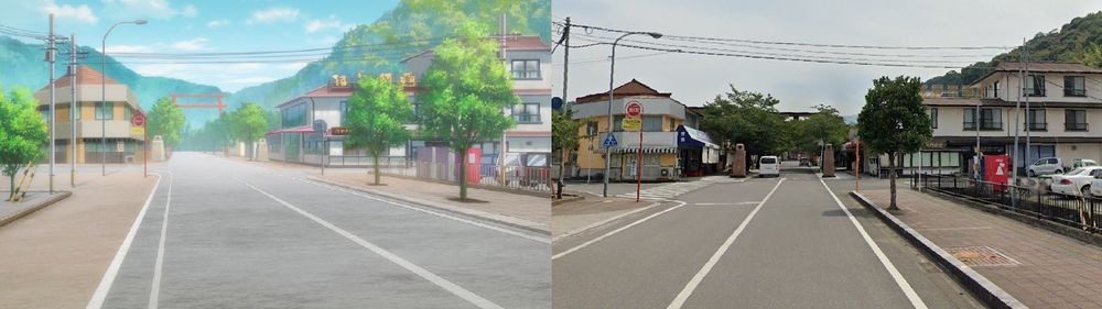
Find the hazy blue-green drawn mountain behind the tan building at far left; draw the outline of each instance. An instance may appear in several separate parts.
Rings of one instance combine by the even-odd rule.
[[[79,42],[79,40],[77,40]],[[93,47],[78,46],[82,53],[87,56],[80,60],[93,69],[102,71],[101,54]],[[43,62],[44,44],[29,44],[19,40],[0,36],[0,86],[4,91],[11,87],[26,87],[31,91],[37,91],[45,87],[50,80],[50,65]],[[65,75],[68,65],[68,45],[58,46],[57,63],[54,78]],[[161,97],[172,92],[179,93],[212,93],[222,92],[218,87],[199,85],[175,78],[142,76],[119,64],[115,58],[107,57],[108,75],[119,82],[130,87],[130,91],[138,98],[142,109],[149,110]],[[199,120],[217,117],[217,112],[208,110],[184,110],[185,115],[192,123],[202,123]]]

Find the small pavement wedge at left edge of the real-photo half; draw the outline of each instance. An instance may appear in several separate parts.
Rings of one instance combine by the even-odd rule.
[[[658,202],[647,200],[635,202],[635,199],[585,195],[584,199],[551,208],[551,236],[552,240],[570,236],[656,205]]]

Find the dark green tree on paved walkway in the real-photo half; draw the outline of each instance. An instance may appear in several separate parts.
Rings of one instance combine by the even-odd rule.
[[[892,205],[896,206],[896,157],[922,148],[933,135],[930,117],[922,106],[922,84],[917,77],[880,77],[865,95],[865,106],[857,115],[861,142],[874,153],[888,155]]]

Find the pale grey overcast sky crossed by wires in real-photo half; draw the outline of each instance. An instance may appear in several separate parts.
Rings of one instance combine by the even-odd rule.
[[[1102,1],[1098,0],[554,0],[551,5],[554,21],[570,16],[573,23],[618,30],[882,46],[1016,46],[1022,44],[1023,38],[1059,29],[1076,16],[1102,11]],[[613,36],[597,31],[590,34]],[[645,35],[635,35],[631,40],[679,43]],[[571,45],[584,43],[588,42],[579,40]],[[938,53],[966,55],[969,57],[951,58],[954,62],[965,60],[966,64],[988,60],[1001,52]],[[554,95],[562,96],[563,53],[560,48],[554,54]],[[571,49],[569,100],[608,91],[608,45]],[[619,86],[635,78],[659,91],[672,92],[674,99],[687,106],[703,106],[716,95],[727,91],[728,85],[734,85],[739,90],[773,95],[780,99],[778,109],[781,111],[804,111],[827,103],[849,115],[861,111],[864,95],[877,77],[908,75],[925,80],[948,70],[685,55],[617,47],[615,84]]]

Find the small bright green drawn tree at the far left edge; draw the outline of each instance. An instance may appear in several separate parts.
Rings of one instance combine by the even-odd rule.
[[[48,143],[46,121],[37,108],[29,90],[15,88],[6,97],[0,89],[0,170],[8,176],[12,195],[19,167],[39,159],[42,145]]]

